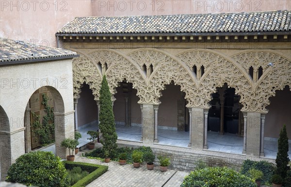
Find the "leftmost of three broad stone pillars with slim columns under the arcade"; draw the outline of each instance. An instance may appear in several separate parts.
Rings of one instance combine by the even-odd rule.
[[[155,138],[154,105],[143,104],[143,141],[152,144]]]

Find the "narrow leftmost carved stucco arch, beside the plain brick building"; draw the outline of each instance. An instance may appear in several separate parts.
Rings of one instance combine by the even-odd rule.
[[[74,98],[80,98],[83,83],[89,85],[93,92],[95,100],[99,98],[99,89],[101,83],[100,72],[96,65],[84,54],[80,54],[79,58],[73,59],[73,87]]]

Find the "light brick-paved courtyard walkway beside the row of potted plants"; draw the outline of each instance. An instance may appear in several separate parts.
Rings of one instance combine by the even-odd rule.
[[[162,172],[159,167],[150,171],[146,169],[145,165],[133,168],[132,164],[121,166],[118,162],[105,163],[81,156],[76,156],[75,161],[109,166],[107,172],[87,187],[179,187],[184,177],[189,174],[174,170]]]

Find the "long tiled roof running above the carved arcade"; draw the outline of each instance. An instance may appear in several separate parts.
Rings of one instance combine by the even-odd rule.
[[[291,11],[172,16],[76,17],[62,34],[291,31]]]

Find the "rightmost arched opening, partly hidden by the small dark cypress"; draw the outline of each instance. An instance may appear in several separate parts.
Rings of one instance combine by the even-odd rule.
[[[285,124],[289,138],[289,157],[291,157],[291,91],[289,86],[276,90],[275,96],[270,97],[270,105],[266,107],[264,126],[264,156],[276,158],[280,129]]]

